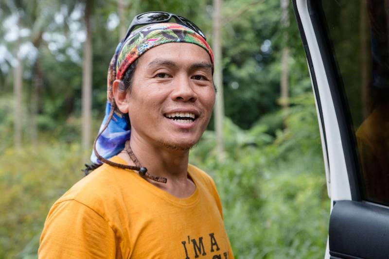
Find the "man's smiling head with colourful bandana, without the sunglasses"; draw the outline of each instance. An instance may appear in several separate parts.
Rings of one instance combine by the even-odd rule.
[[[109,122],[107,133],[102,134],[102,141],[97,139],[97,150],[107,158],[116,155],[130,130],[131,138],[189,149],[201,137],[212,113],[212,71],[210,46],[186,26],[159,23],[132,32],[111,60],[106,114],[111,104],[117,104],[119,111]]]

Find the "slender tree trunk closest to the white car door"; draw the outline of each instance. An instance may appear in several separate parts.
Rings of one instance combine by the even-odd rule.
[[[288,67],[288,59],[289,59],[289,48],[288,44],[288,33],[287,28],[289,27],[289,13],[288,13],[288,0],[281,0],[281,26],[283,27],[283,35],[285,40],[285,45],[282,51],[281,57],[281,78],[280,78],[280,104],[283,110],[288,108],[288,98],[289,98],[289,67]]]

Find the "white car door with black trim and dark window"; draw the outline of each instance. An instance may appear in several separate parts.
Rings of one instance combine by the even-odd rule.
[[[389,258],[389,1],[293,7],[331,197],[326,258]]]

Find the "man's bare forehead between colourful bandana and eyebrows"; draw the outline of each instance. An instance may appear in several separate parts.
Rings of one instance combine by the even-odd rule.
[[[141,55],[139,64],[149,66],[155,60],[168,60],[178,66],[192,65],[195,63],[211,64],[210,55],[206,50],[196,44],[186,42],[165,43],[151,48]]]

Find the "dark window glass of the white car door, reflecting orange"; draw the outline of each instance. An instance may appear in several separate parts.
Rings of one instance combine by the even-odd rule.
[[[321,4],[354,135],[362,199],[389,205],[389,1]]]

